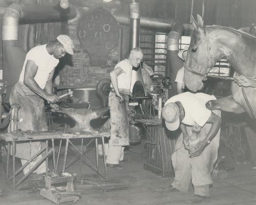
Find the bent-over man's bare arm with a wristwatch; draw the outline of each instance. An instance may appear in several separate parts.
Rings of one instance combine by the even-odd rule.
[[[199,156],[204,151],[206,146],[209,145],[208,141],[211,141],[216,136],[221,127],[221,118],[215,113],[211,112],[211,115],[206,123],[211,124],[210,131],[207,134],[206,138],[203,141],[200,141],[196,145],[196,148],[189,153],[191,157]]]

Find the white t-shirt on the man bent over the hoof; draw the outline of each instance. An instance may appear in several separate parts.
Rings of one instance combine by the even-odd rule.
[[[205,104],[207,101],[214,99],[216,99],[214,95],[185,92],[172,96],[166,101],[165,105],[180,101],[185,110],[182,123],[188,126],[194,126],[196,123],[203,127],[211,115],[211,111],[205,107]]]

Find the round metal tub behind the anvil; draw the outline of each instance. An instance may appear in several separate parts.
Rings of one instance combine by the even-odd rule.
[[[77,88],[73,89],[73,96],[84,102],[90,103],[90,108],[102,108],[100,98],[96,95],[96,88]]]

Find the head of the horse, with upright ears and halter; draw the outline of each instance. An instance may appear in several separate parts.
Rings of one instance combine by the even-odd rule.
[[[209,31],[204,26],[203,19],[198,15],[198,21],[192,17],[194,30],[191,32],[191,41],[188,48],[184,82],[191,91],[203,88],[203,80],[206,74],[215,65],[220,55],[214,44],[210,44]]]

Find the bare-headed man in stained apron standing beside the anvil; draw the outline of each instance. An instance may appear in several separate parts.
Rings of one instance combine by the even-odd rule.
[[[133,67],[138,67],[143,59],[140,48],[130,51],[128,59],[116,64],[110,72],[111,91],[110,107],[110,140],[107,153],[107,166],[120,168],[119,161],[124,159],[124,146],[129,145],[128,101]]]

